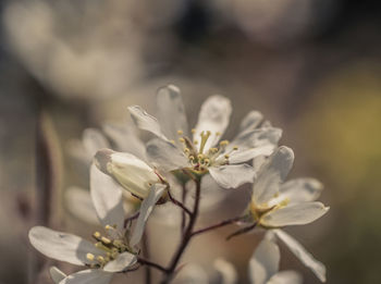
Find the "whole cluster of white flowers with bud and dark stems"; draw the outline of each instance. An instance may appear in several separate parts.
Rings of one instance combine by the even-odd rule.
[[[131,128],[105,128],[114,149],[120,151],[111,150],[100,132],[85,132],[85,149],[94,156],[90,197],[105,233],[95,232],[93,244],[67,233],[42,226],[33,227],[29,239],[37,250],[52,259],[87,267],[71,275],[52,268],[50,274],[53,281],[59,284],[107,284],[113,273],[126,273],[140,266],[151,266],[163,272],[162,283],[169,283],[192,237],[237,223],[242,227],[230,237],[254,229],[267,232],[249,261],[251,283],[302,283],[296,272],[278,272],[280,251],[275,238],[281,239],[324,282],[324,266],[281,230],[287,225],[308,224],[329,209],[315,201],[322,189],[318,181],[285,181],[293,165],[294,153],[287,147],[278,146],[282,131],[265,121],[260,112],[251,111],[241,123],[238,134],[231,143],[221,140],[232,112],[230,100],[222,96],[211,96],[204,102],[198,122],[189,131],[180,90],[173,85],[158,91],[157,104],[159,119],[138,106],[128,108],[136,126],[157,136],[146,145]],[[202,187],[201,181],[207,176],[223,188],[251,184],[253,194],[242,215],[196,231],[201,193],[208,190]],[[188,183],[196,184],[192,188],[190,206],[185,198],[186,192],[190,190]],[[172,194],[179,185],[183,190],[182,201]],[[128,217],[125,212],[126,199],[138,207],[134,214],[128,212]],[[75,198],[71,200],[75,201]],[[155,207],[165,202],[183,210],[182,242],[168,268],[139,255],[146,222]],[[91,210],[89,212],[91,214]],[[216,268],[223,283],[237,282],[234,267],[229,262],[219,260]],[[183,275],[185,272],[186,269]],[[208,283],[207,277],[200,279],[202,273],[198,276],[190,274],[184,283]],[[181,282],[181,275],[177,281]]]

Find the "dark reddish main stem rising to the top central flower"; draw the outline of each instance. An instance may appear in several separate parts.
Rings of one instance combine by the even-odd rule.
[[[172,258],[170,267],[168,268],[168,270],[165,272],[164,279],[161,281],[161,284],[168,284],[171,282],[172,277],[173,277],[173,272],[175,271],[177,263],[179,263],[181,257],[183,256],[183,254],[185,252],[185,249],[188,246],[188,244],[192,239],[192,236],[193,236],[193,230],[194,230],[194,226],[195,226],[196,221],[197,221],[199,202],[200,202],[201,178],[198,177],[198,178],[195,178],[194,181],[196,183],[196,195],[195,195],[195,205],[194,205],[193,213],[189,218],[188,225],[186,226],[186,230],[184,232],[183,239],[180,243],[180,246],[177,247],[177,249]]]

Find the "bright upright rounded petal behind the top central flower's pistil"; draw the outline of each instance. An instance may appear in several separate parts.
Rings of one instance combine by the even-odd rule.
[[[232,106],[228,98],[217,95],[209,97],[202,103],[198,114],[194,140],[200,143],[200,134],[210,131],[211,135],[205,145],[205,149],[214,146],[221,137],[216,134],[220,133],[222,135],[225,132],[231,113]]]

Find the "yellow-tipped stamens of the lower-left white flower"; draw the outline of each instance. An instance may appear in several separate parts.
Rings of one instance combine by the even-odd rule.
[[[97,240],[94,246],[105,254],[96,256],[89,252],[86,255],[91,269],[103,268],[109,261],[114,260],[119,254],[131,250],[125,237],[122,236],[115,226],[106,225],[105,229],[109,232],[109,236],[103,236],[99,232],[93,234],[93,237]],[[111,238],[110,235],[115,237]]]

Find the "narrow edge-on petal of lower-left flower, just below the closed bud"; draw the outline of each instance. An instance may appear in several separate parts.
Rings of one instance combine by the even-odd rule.
[[[131,237],[131,242],[130,242],[131,246],[135,246],[140,242],[148,218],[152,212],[156,202],[162,196],[165,187],[167,185],[163,185],[163,184],[152,185],[148,197],[143,200],[140,206],[140,211],[139,211],[139,218],[136,221],[136,225],[135,225],[133,235]]]

